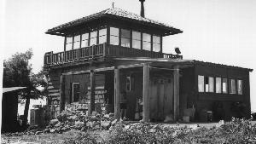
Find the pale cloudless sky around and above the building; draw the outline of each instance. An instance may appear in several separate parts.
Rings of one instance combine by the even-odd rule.
[[[47,35],[49,28],[114,6],[139,14],[138,0],[8,0],[5,2],[3,59],[32,48],[38,72],[44,53],[63,50],[63,37]],[[146,17],[180,28],[164,38],[164,52],[181,49],[184,59],[204,60],[256,71],[255,0],[146,0]],[[0,32],[3,34],[2,32]],[[3,39],[2,39],[3,40]],[[256,111],[256,74],[251,72],[251,103]]]

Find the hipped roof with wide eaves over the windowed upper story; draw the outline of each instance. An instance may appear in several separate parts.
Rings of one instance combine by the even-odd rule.
[[[148,24],[153,24],[155,26],[163,26],[169,29],[173,29],[176,30],[176,33],[181,33],[182,31],[179,29],[176,29],[172,26],[169,26],[167,24],[161,23],[157,20],[150,20],[148,18],[142,17],[138,14],[133,14],[131,12],[128,12],[126,10],[123,9],[119,9],[119,8],[111,8],[111,9],[105,9],[102,10],[101,12],[98,12],[96,14],[90,14],[89,16],[85,16],[83,18],[80,18],[78,20],[73,20],[70,22],[67,22],[65,24],[62,24],[60,26],[55,26],[54,28],[49,29],[46,33],[48,34],[54,34],[55,32],[67,28],[67,27],[71,27],[71,26],[76,26],[79,25],[81,23],[84,23],[88,20],[94,20],[94,19],[98,19],[100,17],[106,16],[106,15],[113,15],[113,16],[117,16],[119,18],[126,18],[128,20],[136,20],[136,21],[140,21],[140,22],[144,22],[144,23],[148,23]]]

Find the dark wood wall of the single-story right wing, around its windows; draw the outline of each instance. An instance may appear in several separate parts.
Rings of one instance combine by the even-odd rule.
[[[199,93],[197,90],[197,77],[198,75],[220,77],[220,78],[235,78],[241,79],[242,82],[242,95],[237,94],[217,94],[217,93]],[[195,65],[195,97],[196,98],[196,114],[197,118],[201,121],[205,121],[206,115],[203,111],[210,110],[215,111],[217,105],[223,109],[222,117],[230,120],[231,117],[238,117],[239,113],[232,110],[232,104],[234,102],[241,102],[245,104],[244,117],[250,118],[250,86],[249,86],[249,72],[245,69],[227,66],[211,66],[198,64]],[[219,113],[213,112],[214,115]],[[216,119],[218,120],[218,119]]]

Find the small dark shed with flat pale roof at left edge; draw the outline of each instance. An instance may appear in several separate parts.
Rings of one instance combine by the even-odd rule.
[[[3,88],[1,132],[18,130],[18,92],[26,87]]]

